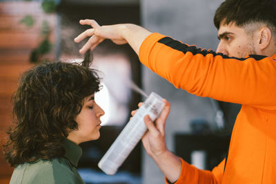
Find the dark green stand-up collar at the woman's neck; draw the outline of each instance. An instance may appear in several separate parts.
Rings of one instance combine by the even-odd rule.
[[[77,167],[82,154],[81,147],[68,139],[63,139],[63,146],[65,148],[65,157],[74,167]]]

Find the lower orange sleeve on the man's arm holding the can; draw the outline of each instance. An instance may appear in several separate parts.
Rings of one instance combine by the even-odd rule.
[[[225,159],[224,159],[225,161]],[[224,172],[224,161],[219,163],[212,172],[208,170],[199,170],[197,167],[186,163],[181,159],[182,167],[181,174],[177,181],[173,184],[219,184],[221,183],[222,175]],[[170,184],[165,177],[166,184]]]

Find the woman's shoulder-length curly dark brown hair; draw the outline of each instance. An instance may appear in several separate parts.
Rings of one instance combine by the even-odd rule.
[[[62,139],[78,128],[83,99],[100,89],[89,54],[77,63],[42,63],[25,72],[12,96],[16,125],[8,132],[5,159],[11,166],[64,156]]]

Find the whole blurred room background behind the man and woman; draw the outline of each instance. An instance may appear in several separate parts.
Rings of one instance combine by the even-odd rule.
[[[55,4],[52,12],[45,12],[43,8],[48,6],[41,6],[42,2],[0,1],[2,142],[12,121],[10,96],[17,87],[19,75],[43,59],[66,62],[83,59],[78,50],[84,42],[77,44],[72,41],[77,34],[89,28],[79,25],[79,19],[95,19],[100,25],[136,23],[189,45],[213,50],[217,48],[213,15],[222,0],[57,0],[52,1]],[[43,24],[45,20],[48,24]],[[48,42],[43,42],[46,37],[50,50]],[[43,50],[48,49],[48,52],[39,50],[41,43],[44,44]],[[93,67],[102,71],[107,89],[105,92],[108,91],[103,94],[108,97],[103,99],[110,99],[108,101],[112,103],[107,107],[111,109],[110,118],[101,128],[101,138],[81,145],[83,156],[79,171],[86,183],[164,183],[164,175],[146,154],[141,143],[115,176],[107,176],[97,168],[101,156],[128,122],[130,111],[144,100],[141,94],[131,88],[129,81],[147,94],[157,92],[170,101],[171,111],[166,123],[169,150],[186,156],[184,159],[189,163],[198,163],[198,167],[205,169],[211,169],[224,158],[239,105],[201,98],[176,89],[141,65],[129,45],[103,41],[93,55]],[[223,126],[219,127],[219,123],[223,123]],[[0,154],[0,183],[8,183],[11,173],[12,168]]]

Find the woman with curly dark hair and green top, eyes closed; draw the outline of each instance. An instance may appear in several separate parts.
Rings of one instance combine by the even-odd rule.
[[[21,76],[12,97],[16,125],[4,151],[15,167],[10,183],[84,183],[76,170],[79,143],[99,139],[104,114],[88,58],[82,65],[43,63]]]

